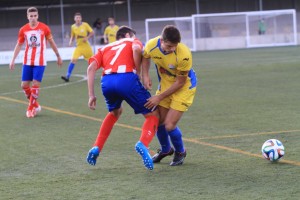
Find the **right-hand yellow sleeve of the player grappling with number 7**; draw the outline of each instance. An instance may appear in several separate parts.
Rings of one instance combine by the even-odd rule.
[[[188,47],[182,45],[178,48],[178,71],[189,71],[192,68],[192,54]]]

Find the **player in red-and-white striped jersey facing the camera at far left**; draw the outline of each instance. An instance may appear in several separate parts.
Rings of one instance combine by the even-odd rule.
[[[57,64],[62,65],[62,60],[58,49],[53,40],[50,28],[38,21],[38,10],[35,7],[27,9],[28,24],[25,24],[19,31],[18,41],[14,49],[12,61],[9,65],[11,70],[15,68],[15,59],[18,56],[22,45],[26,42],[21,87],[29,99],[29,105],[26,111],[28,118],[34,117],[37,112],[41,111],[41,106],[37,102],[39,97],[39,88],[43,79],[46,67],[46,43],[49,42],[51,48],[57,56]],[[32,86],[30,84],[32,82]]]

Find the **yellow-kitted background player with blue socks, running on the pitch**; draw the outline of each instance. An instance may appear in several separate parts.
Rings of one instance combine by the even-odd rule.
[[[75,39],[76,48],[73,52],[66,76],[61,77],[66,82],[69,82],[72,71],[80,56],[83,56],[85,60],[89,60],[90,57],[93,56],[92,47],[88,41],[89,38],[94,35],[93,29],[88,23],[82,22],[81,13],[75,13],[74,21],[75,24],[71,26],[71,38],[69,46],[72,45],[72,42]]]

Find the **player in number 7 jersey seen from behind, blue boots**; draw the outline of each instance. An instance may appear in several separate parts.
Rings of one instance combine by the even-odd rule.
[[[135,114],[143,114],[145,117],[141,137],[135,149],[142,156],[144,166],[152,170],[153,162],[148,145],[157,130],[158,112],[144,107],[151,95],[142,86],[137,75],[140,72],[143,45],[135,39],[135,31],[126,26],[120,27],[116,37],[118,41],[99,49],[89,61],[88,105],[92,110],[96,107],[95,74],[98,69],[103,68],[101,87],[109,113],[103,120],[94,147],[88,153],[87,162],[91,165],[96,164],[105,141],[122,113],[122,102],[125,100],[134,109]]]

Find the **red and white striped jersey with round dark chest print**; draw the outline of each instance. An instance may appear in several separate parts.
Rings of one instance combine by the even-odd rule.
[[[51,38],[50,28],[42,22],[38,22],[34,28],[31,28],[29,23],[20,28],[18,43],[23,44],[26,42],[23,64],[46,66],[46,39]]]

